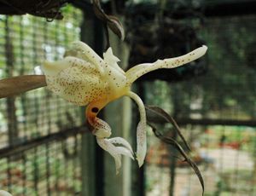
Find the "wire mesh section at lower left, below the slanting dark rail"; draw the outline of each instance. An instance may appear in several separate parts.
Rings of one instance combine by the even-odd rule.
[[[1,159],[1,188],[13,195],[79,194],[79,142],[74,140],[79,137],[45,142]]]

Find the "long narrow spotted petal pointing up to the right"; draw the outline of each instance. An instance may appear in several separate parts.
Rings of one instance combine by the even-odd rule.
[[[160,68],[175,68],[177,66],[183,66],[184,64],[195,61],[202,55],[205,55],[206,52],[207,46],[203,45],[200,48],[195,49],[186,55],[181,55],[165,60],[158,60],[154,63],[143,63],[137,66],[133,66],[131,67],[131,69],[125,72],[125,75],[128,79],[129,84],[132,84],[135,80],[137,80],[137,78],[140,78],[147,72],[151,72]]]

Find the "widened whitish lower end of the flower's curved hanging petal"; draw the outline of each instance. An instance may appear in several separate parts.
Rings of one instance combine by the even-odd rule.
[[[147,153],[147,134],[145,122],[139,122],[137,125],[137,162],[139,167],[144,163]]]

